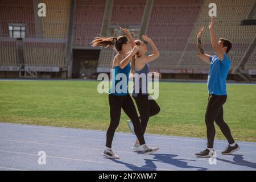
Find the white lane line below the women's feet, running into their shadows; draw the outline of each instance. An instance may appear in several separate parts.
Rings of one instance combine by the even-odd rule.
[[[6,152],[6,153],[11,153],[11,154],[21,154],[21,155],[32,155],[32,156],[38,156],[37,154],[30,154],[30,153],[25,153],[25,152],[13,152],[13,151],[6,151],[6,150],[0,150],[0,152]],[[138,167],[130,164],[117,164],[117,163],[108,163],[108,162],[100,162],[100,161],[94,161],[94,160],[86,160],[86,159],[76,159],[76,158],[64,158],[60,156],[52,156],[52,155],[47,155],[47,158],[54,158],[54,159],[64,159],[64,160],[75,160],[79,162],[90,162],[90,163],[99,163],[99,164],[110,164],[110,165],[117,165],[117,166],[130,166],[130,167]],[[152,168],[152,167],[138,167],[138,168],[146,168],[146,169],[159,169],[163,171],[172,171],[172,169],[163,169],[163,168]]]

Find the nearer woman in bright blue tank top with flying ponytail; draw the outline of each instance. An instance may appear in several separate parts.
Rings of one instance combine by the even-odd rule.
[[[96,37],[91,43],[92,47],[102,46],[107,48],[114,45],[115,51],[117,52],[112,64],[113,79],[112,87],[109,90],[110,125],[106,133],[106,148],[102,154],[111,159],[119,159],[112,150],[112,141],[115,130],[119,125],[121,109],[123,109],[131,121],[133,121],[134,131],[142,148],[142,154],[147,155],[158,150],[158,148],[151,148],[146,145],[135,105],[127,89],[131,69],[131,57],[133,57],[140,48],[135,45],[133,37],[126,28],[120,29],[125,32],[127,36],[118,36],[117,38]]]

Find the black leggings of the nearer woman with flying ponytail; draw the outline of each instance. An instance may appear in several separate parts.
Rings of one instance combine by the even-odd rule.
[[[121,117],[121,109],[125,111],[126,115],[131,119],[134,126],[134,132],[139,140],[139,144],[145,144],[143,131],[141,124],[139,123],[139,117],[137,110],[133,103],[133,99],[130,94],[126,96],[115,96],[114,94],[109,94],[109,106],[110,106],[110,125],[106,133],[106,147],[112,147],[112,140],[114,137],[115,130],[119,125],[119,120]]]

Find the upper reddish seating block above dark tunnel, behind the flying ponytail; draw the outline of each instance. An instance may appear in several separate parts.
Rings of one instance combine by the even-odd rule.
[[[105,0],[76,1],[73,46],[90,46],[92,39],[101,33],[104,9]]]

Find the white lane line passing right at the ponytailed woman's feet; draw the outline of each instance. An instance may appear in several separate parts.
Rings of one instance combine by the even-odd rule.
[[[69,148],[82,148],[84,150],[100,150],[102,151],[101,148],[88,148],[88,147],[81,147],[81,146],[65,146],[65,145],[61,145],[61,144],[50,144],[50,143],[39,143],[39,142],[27,142],[27,141],[23,141],[23,140],[9,140],[9,139],[0,139],[0,140],[6,140],[8,142],[21,142],[21,143],[32,143],[32,144],[43,144],[43,145],[49,145],[49,146],[58,146],[58,147],[69,147]],[[134,152],[126,152],[126,151],[115,151],[115,152],[120,152],[120,153],[127,153],[127,154],[134,154]],[[175,154],[173,154],[175,155]],[[177,155],[179,156],[179,155]],[[180,159],[189,159],[189,160],[203,160],[203,161],[208,161],[208,159],[203,159],[203,158],[187,158],[187,157],[183,157],[183,156],[179,156]],[[175,158],[176,159],[176,158]],[[222,162],[222,161],[220,161]],[[245,163],[237,163],[236,164],[245,164]],[[249,164],[252,166],[256,166],[255,164]]]

